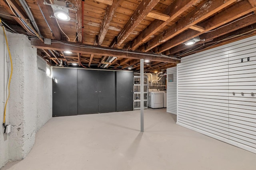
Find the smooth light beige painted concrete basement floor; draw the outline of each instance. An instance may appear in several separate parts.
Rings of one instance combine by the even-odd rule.
[[[2,170],[255,170],[256,154],[176,125],[166,109],[54,117]]]

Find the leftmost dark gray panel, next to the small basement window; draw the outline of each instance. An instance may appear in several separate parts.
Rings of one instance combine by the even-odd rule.
[[[52,116],[77,115],[77,70],[52,68],[52,74]]]

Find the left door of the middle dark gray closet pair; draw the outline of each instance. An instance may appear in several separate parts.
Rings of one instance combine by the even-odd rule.
[[[78,115],[98,113],[98,71],[78,69]]]

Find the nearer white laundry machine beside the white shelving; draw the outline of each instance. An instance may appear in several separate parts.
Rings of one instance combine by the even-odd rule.
[[[158,92],[157,89],[148,90],[148,107],[162,108],[164,107],[164,93]]]

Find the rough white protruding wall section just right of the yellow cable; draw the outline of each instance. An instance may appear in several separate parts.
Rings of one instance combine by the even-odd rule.
[[[10,51],[13,61],[13,76],[9,103],[10,152],[12,160],[24,158],[32,149],[36,133],[37,77],[36,49],[32,48],[26,36],[10,34]],[[18,139],[18,140],[16,140]]]

